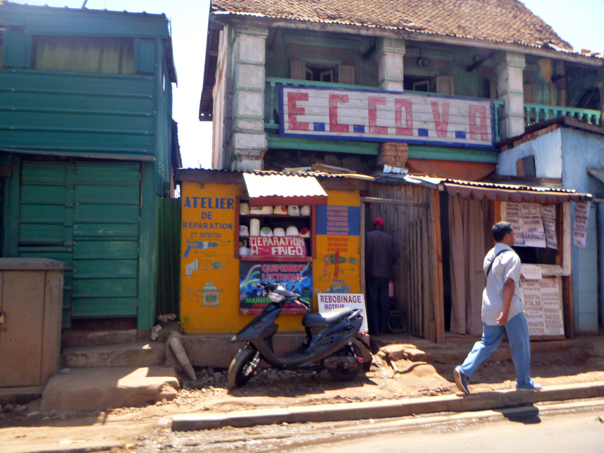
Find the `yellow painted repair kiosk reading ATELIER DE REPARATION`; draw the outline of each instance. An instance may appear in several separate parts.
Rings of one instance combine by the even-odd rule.
[[[179,170],[181,322],[185,333],[233,333],[266,306],[257,283],[317,294],[362,291],[361,191],[371,176]],[[286,307],[280,332],[303,330]]]

